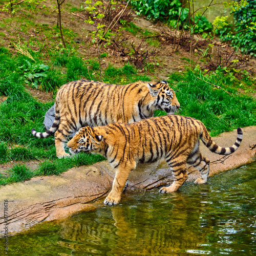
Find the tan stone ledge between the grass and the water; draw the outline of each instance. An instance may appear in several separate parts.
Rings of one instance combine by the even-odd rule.
[[[224,170],[238,168],[256,160],[256,126],[243,128],[243,141],[236,152],[229,156],[211,153],[200,144],[201,152],[210,159],[209,176]],[[220,146],[231,146],[237,131],[224,133],[214,138]],[[199,177],[198,170],[189,167],[188,182]],[[81,210],[91,210],[103,205],[111,190],[114,170],[108,161],[91,166],[73,167],[59,176],[35,177],[29,181],[0,187],[0,201],[8,200],[8,231],[21,232],[42,221],[67,218]],[[130,173],[125,193],[136,193],[135,189],[153,189],[172,183],[173,177],[165,162],[140,164]],[[96,200],[98,199],[98,200]],[[4,212],[4,204],[0,204]],[[2,215],[0,225],[5,225]],[[3,236],[3,230],[1,230]],[[1,236],[1,233],[0,233]]]

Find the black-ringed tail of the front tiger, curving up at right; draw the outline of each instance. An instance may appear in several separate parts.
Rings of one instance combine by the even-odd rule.
[[[200,138],[202,139],[203,143],[209,148],[211,152],[217,153],[219,155],[230,155],[231,153],[235,152],[243,139],[243,132],[240,127],[238,127],[238,136],[236,142],[230,147],[221,147],[218,146],[214,141],[211,140],[209,133],[207,132],[206,128],[200,134]]]

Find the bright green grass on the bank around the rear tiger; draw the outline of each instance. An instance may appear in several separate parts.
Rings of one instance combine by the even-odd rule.
[[[57,175],[72,166],[103,159],[91,154],[57,159],[54,136],[38,139],[31,134],[32,128],[45,131],[42,124],[45,113],[54,103],[54,95],[63,83],[81,78],[99,80],[98,62],[84,60],[69,50],[52,52],[48,60],[42,60],[40,52],[27,50],[28,54],[24,56],[0,48],[0,96],[3,99],[0,103],[0,163],[26,160],[40,160],[41,163],[33,172],[24,164],[14,165],[7,176],[0,175],[1,185],[38,175]],[[119,84],[156,80],[139,74],[129,64],[121,68],[110,65],[102,75],[103,81]],[[256,102],[245,93],[251,86],[249,79],[240,81],[230,74],[223,75],[220,70],[211,74],[195,70],[174,73],[167,81],[177,90],[180,114],[203,121],[212,136],[256,123]],[[29,88],[51,91],[53,97],[42,103],[32,97]],[[156,116],[163,114],[161,111],[155,113]]]

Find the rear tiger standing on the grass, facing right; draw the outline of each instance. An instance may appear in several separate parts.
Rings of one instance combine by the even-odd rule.
[[[31,132],[38,138],[55,133],[57,157],[69,157],[64,147],[66,138],[83,126],[132,123],[152,117],[155,110],[174,114],[179,106],[174,90],[165,80],[138,81],[125,86],[78,80],[66,83],[58,90],[52,127],[44,133],[35,129]]]

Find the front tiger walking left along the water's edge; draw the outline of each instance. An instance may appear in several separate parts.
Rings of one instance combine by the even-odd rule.
[[[116,175],[104,204],[113,205],[120,202],[129,173],[138,163],[166,160],[175,181],[168,187],[162,187],[159,190],[161,193],[174,192],[186,181],[186,163],[200,172],[201,177],[195,183],[206,183],[210,161],[199,151],[199,138],[210,151],[229,155],[237,150],[242,141],[241,128],[237,132],[237,140],[231,147],[220,147],[212,141],[201,121],[191,117],[167,115],[131,124],[83,127],[67,145],[72,154],[91,151],[108,158]]]

